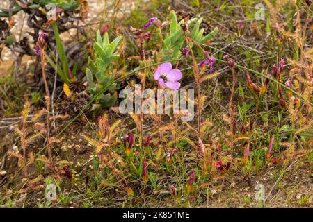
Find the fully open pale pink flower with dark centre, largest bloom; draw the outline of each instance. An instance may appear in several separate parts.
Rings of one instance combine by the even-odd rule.
[[[182,72],[179,69],[172,69],[170,62],[165,62],[154,72],[154,80],[159,80],[159,84],[170,89],[179,89]]]

